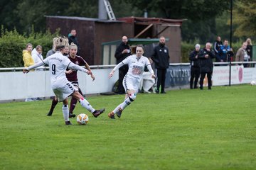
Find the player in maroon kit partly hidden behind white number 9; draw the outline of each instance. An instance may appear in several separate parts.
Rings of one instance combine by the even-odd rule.
[[[67,57],[74,64],[84,65],[85,68],[91,72],[89,64],[87,64],[87,62],[85,62],[85,60],[83,60],[82,57],[76,55],[77,52],[78,52],[78,46],[72,42],[70,45],[70,53]],[[82,91],[79,88],[79,84],[78,84],[78,70],[70,69],[70,70],[67,70],[65,73],[66,73],[66,77],[67,77],[68,81],[70,81],[76,88],[78,88],[79,93],[82,94]],[[94,75],[91,74],[90,76],[92,77],[92,81],[94,81],[95,80]],[[72,97],[71,101],[70,101],[70,111],[69,111],[70,118],[75,117],[75,114],[73,114],[73,111],[75,109],[76,103],[78,103],[78,101]],[[53,98],[52,105],[50,106],[50,111],[47,114],[48,116],[53,114],[53,110],[57,104],[58,104],[58,99],[55,97],[55,98]]]

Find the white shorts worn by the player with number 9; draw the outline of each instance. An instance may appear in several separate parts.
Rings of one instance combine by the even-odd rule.
[[[53,89],[55,96],[58,98],[58,101],[64,101],[65,98],[68,98],[74,91],[78,91],[78,89],[71,84],[69,81],[66,82],[64,86],[58,87],[57,89]]]

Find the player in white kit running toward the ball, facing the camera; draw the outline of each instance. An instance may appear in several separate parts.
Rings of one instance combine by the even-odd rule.
[[[136,55],[130,55],[122,62],[117,64],[112,72],[110,72],[109,78],[111,78],[114,72],[122,67],[124,64],[128,64],[129,66],[128,72],[123,79],[123,86],[127,94],[125,94],[124,102],[119,104],[119,106],[117,106],[114,111],[108,114],[108,116],[112,119],[114,119],[114,114],[117,114],[117,117],[120,118],[124,108],[126,108],[130,103],[132,103],[132,101],[135,100],[136,95],[139,91],[139,85],[140,81],[142,80],[142,73],[144,72],[144,67],[147,67],[149,69],[152,78],[156,78],[149,59],[142,56],[143,53],[144,47],[142,45],[138,45],[136,47]]]

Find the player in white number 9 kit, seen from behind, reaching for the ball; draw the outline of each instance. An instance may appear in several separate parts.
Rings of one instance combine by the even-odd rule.
[[[58,38],[56,40],[56,51],[55,54],[47,57],[43,62],[39,62],[38,64],[33,64],[32,66],[23,70],[23,73],[28,73],[31,69],[36,67],[40,67],[43,64],[48,64],[50,67],[50,82],[55,96],[58,98],[58,101],[63,101],[63,117],[65,119],[66,125],[72,125],[69,120],[69,112],[68,112],[68,96],[75,97],[81,104],[82,107],[86,108],[90,111],[95,117],[100,115],[105,111],[105,108],[100,110],[95,110],[92,108],[90,103],[82,97],[82,95],[78,92],[78,89],[73,86],[73,84],[68,81],[65,75],[65,71],[68,68],[80,70],[81,72],[85,72],[88,75],[92,74],[92,72],[84,69],[73,62],[71,62],[68,57],[63,55],[65,47],[68,46],[67,38]]]

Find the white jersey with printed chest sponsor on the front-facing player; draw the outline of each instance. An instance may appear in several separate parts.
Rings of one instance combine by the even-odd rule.
[[[140,57],[139,59],[136,55],[130,55],[122,61],[123,64],[128,64],[129,69],[127,75],[129,77],[134,77],[137,79],[142,79],[142,73],[144,68],[148,65],[151,65],[147,57]]]

